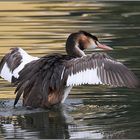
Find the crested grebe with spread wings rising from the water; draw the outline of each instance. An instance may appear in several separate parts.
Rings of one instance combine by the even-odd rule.
[[[23,106],[51,108],[64,103],[72,87],[107,85],[135,88],[139,79],[124,64],[107,55],[84,50],[113,50],[87,31],[71,33],[66,40],[66,55],[53,53],[34,57],[22,48],[12,48],[0,62],[0,76],[16,86],[16,106],[23,95]]]

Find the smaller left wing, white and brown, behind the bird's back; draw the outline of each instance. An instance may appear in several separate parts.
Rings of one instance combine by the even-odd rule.
[[[0,62],[0,76],[9,82],[18,78],[25,64],[39,58],[27,54],[21,48],[12,48]]]

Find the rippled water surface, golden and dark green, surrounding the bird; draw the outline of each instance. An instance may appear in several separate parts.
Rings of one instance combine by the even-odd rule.
[[[66,38],[78,30],[113,47],[108,54],[140,78],[140,2],[0,1],[0,59],[12,47],[65,53]],[[14,89],[0,79],[0,138],[140,138],[140,88],[75,87],[52,110],[26,110],[22,101],[14,109]]]

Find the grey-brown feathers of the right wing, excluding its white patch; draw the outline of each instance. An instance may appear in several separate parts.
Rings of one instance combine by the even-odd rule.
[[[65,64],[63,79],[68,80],[71,74],[77,74],[87,69],[97,68],[97,75],[101,82],[112,87],[139,86],[139,80],[125,65],[112,59],[105,53],[96,53],[82,58],[72,59]],[[85,73],[83,72],[83,76]],[[93,77],[94,78],[94,77]],[[83,84],[78,83],[79,85]]]

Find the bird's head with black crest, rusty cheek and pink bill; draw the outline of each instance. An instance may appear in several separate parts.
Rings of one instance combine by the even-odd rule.
[[[66,41],[66,51],[72,56],[81,57],[85,55],[83,50],[88,48],[113,50],[111,47],[101,44],[96,36],[86,31],[72,33]]]

